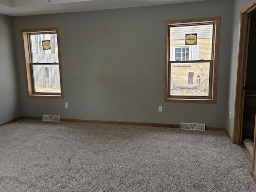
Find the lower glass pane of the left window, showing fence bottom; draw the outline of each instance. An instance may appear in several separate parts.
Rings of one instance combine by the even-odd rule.
[[[35,92],[60,93],[59,65],[33,65]]]

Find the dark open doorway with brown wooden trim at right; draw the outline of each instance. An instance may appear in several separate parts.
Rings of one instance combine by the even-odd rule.
[[[256,63],[256,59],[254,59],[256,48],[253,45],[255,40],[254,42],[252,41],[256,32],[256,24],[254,24],[256,22],[255,10],[256,0],[251,0],[244,6],[240,14],[240,41],[232,142],[234,144],[242,144],[242,141],[248,137],[254,140],[252,176],[256,180],[256,135],[254,131],[256,112],[254,74],[256,68],[253,66]]]

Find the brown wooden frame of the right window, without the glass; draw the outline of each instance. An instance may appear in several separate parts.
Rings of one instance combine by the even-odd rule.
[[[212,37],[212,59],[211,60],[189,60],[189,61],[169,60],[170,26],[188,26],[188,25],[197,25],[197,24],[214,24],[214,31],[213,31],[213,37]],[[183,102],[183,103],[186,102],[186,103],[208,103],[208,104],[216,103],[219,39],[220,39],[220,17],[165,21],[164,102]],[[193,63],[202,63],[202,62],[210,63],[209,96],[170,96],[171,64],[193,64]]]

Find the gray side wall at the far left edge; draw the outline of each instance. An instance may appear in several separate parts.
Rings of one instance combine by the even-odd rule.
[[[0,123],[20,116],[12,17],[0,14]]]

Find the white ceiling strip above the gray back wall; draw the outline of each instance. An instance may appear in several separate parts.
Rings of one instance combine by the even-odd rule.
[[[152,6],[205,0],[0,0],[0,14],[26,16]]]

